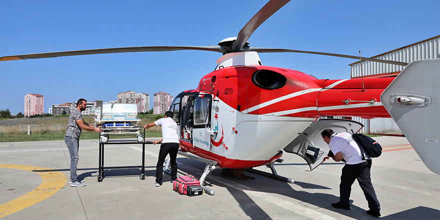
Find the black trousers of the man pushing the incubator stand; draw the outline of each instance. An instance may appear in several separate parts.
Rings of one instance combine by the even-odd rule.
[[[162,183],[163,175],[163,162],[165,162],[166,155],[169,154],[171,164],[171,180],[177,178],[177,162],[175,157],[177,156],[178,143],[162,143],[160,144],[159,158],[156,164],[156,182]]]

